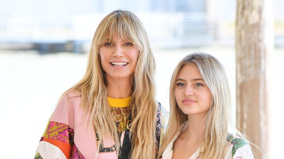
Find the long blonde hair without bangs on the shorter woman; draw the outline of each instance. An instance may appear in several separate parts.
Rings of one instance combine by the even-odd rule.
[[[229,125],[235,129],[231,121],[232,100],[226,72],[221,62],[206,53],[193,53],[184,57],[175,68],[170,82],[170,118],[159,151],[159,157],[169,142],[177,134],[180,126],[188,120],[175,99],[175,80],[180,70],[187,64],[194,64],[212,94],[212,103],[206,115],[205,133],[201,142],[201,158],[220,159],[225,156],[226,140]],[[238,136],[245,138],[238,130]]]

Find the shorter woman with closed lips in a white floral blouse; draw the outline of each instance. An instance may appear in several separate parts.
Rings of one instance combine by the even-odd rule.
[[[231,119],[225,69],[206,53],[184,57],[170,83],[170,119],[159,152],[162,159],[253,159],[249,142]]]

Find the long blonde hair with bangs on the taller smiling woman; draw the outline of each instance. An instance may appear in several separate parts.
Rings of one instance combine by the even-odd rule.
[[[88,65],[83,78],[66,93],[78,90],[81,93],[85,117],[94,127],[99,137],[108,135],[120,148],[117,127],[109,112],[107,101],[107,80],[101,67],[99,47],[107,39],[112,41],[115,35],[131,42],[139,49],[138,62],[133,73],[132,98],[132,159],[155,158],[156,132],[156,87],[155,61],[148,36],[141,21],[130,11],[113,11],[100,22],[96,29],[88,55]],[[91,125],[93,123],[93,125]],[[98,142],[98,149],[101,138]]]

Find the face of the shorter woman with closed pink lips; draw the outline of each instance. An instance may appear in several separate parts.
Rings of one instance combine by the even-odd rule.
[[[212,95],[194,64],[185,65],[175,81],[175,99],[187,115],[207,113]]]

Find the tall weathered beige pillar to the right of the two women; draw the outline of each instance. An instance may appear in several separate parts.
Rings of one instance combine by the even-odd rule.
[[[256,159],[269,157],[270,59],[273,53],[271,0],[237,0],[236,102],[237,127],[261,151]]]

